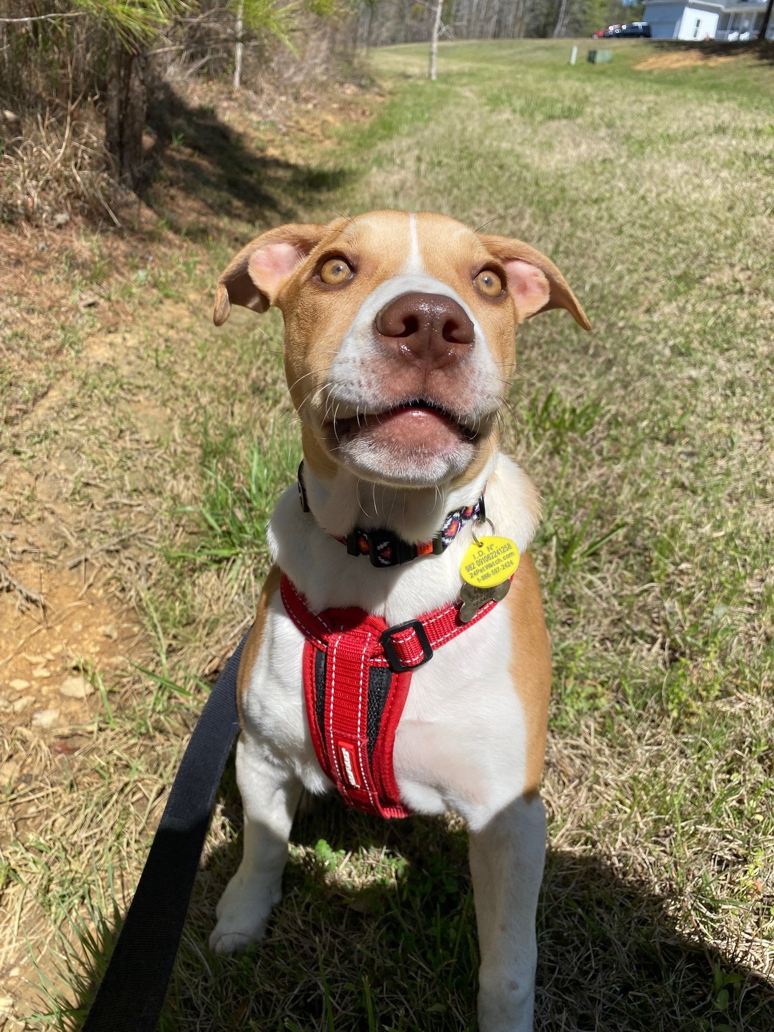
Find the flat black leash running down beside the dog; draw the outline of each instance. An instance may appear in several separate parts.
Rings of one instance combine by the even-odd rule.
[[[215,796],[239,721],[236,672],[247,635],[201,711],[134,899],[82,1032],[154,1032],[178,954]]]

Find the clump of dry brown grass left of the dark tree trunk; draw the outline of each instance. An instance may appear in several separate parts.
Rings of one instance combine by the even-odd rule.
[[[101,133],[86,117],[14,123],[0,137],[0,221],[61,226],[74,215],[119,226],[126,203]]]

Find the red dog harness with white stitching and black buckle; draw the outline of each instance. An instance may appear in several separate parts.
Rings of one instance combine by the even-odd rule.
[[[361,609],[313,613],[283,574],[282,601],[303,633],[303,694],[317,759],[349,806],[382,817],[406,817],[392,749],[411,675],[440,645],[477,623],[490,602],[467,623],[459,603],[388,627]]]

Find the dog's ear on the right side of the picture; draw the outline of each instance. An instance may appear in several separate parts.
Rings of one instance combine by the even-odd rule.
[[[549,309],[567,309],[584,329],[591,329],[578,298],[550,258],[509,236],[480,233],[479,239],[503,264],[521,319]]]

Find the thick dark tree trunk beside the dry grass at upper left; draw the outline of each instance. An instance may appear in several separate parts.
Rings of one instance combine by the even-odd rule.
[[[139,45],[126,46],[110,32],[105,91],[105,144],[116,179],[134,189],[142,165],[142,128],[146,124],[147,57]]]

